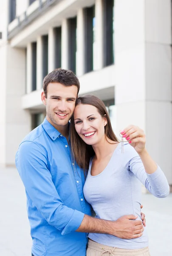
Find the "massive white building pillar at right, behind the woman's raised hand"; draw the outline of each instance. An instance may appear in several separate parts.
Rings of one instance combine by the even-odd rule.
[[[115,102],[117,131],[143,128],[150,155],[172,184],[170,10],[170,0],[115,0]]]

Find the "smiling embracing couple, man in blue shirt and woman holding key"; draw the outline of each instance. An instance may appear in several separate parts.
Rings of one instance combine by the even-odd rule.
[[[157,197],[166,197],[169,185],[145,148],[144,132],[134,125],[121,131],[127,140],[121,153],[104,103],[77,98],[71,71],[49,73],[43,90],[46,118],[16,154],[32,255],[149,256],[141,183]]]

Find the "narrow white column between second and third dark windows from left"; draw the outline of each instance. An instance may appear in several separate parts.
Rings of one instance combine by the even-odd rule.
[[[48,31],[48,73],[55,69],[55,38],[54,29]]]

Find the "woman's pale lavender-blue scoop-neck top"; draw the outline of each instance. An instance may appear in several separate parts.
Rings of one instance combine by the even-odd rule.
[[[110,162],[99,175],[90,174],[92,160],[84,185],[85,199],[92,205],[96,218],[116,221],[123,215],[138,215],[141,220],[141,183],[159,198],[169,194],[169,185],[160,167],[151,175],[145,172],[143,163],[130,144],[117,146]],[[140,182],[141,181],[141,182]],[[137,239],[119,239],[107,234],[88,235],[90,239],[107,246],[123,249],[140,249],[148,246],[146,228]]]

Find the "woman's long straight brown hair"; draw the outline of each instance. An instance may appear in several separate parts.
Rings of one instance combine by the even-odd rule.
[[[96,107],[99,114],[102,117],[106,117],[107,119],[107,125],[105,125],[104,127],[105,137],[114,142],[118,142],[118,139],[112,129],[109,114],[102,100],[93,95],[86,95],[83,97],[79,97],[76,100],[76,106],[80,104],[92,105]],[[95,153],[92,145],[87,145],[82,140],[82,138],[77,134],[75,130],[75,123],[74,123],[73,116],[70,120],[70,142],[71,142],[71,151],[72,151],[73,158],[76,160],[76,163],[79,165],[79,167],[83,168],[84,171],[87,172],[89,168],[90,157],[92,157]]]

